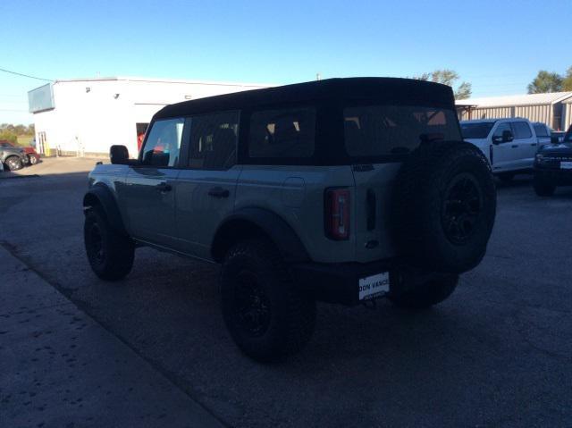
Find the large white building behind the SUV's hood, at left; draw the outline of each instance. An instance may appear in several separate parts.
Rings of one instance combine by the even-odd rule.
[[[114,144],[138,153],[153,114],[180,101],[270,85],[192,80],[98,78],[56,80],[29,91],[37,150],[44,155],[107,155]]]

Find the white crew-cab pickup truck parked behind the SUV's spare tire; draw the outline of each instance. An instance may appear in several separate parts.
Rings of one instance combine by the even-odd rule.
[[[522,118],[463,121],[460,126],[463,139],[481,149],[492,172],[504,181],[532,172],[536,151],[551,142],[546,125]]]

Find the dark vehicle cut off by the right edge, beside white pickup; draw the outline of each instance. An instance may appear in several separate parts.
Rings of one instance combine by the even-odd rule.
[[[548,197],[558,186],[572,186],[572,126],[563,141],[541,147],[534,159],[534,191]]]

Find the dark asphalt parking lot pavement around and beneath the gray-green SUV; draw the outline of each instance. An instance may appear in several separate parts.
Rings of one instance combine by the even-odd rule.
[[[500,184],[487,256],[449,300],[424,313],[320,305],[303,352],[257,365],[223,326],[217,266],[141,248],[126,281],[91,273],[93,164],[48,159],[38,177],[0,179],[0,241],[223,424],[572,425],[572,188]]]

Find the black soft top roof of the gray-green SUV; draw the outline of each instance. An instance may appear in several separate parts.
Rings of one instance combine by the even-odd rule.
[[[453,92],[449,86],[424,80],[368,77],[316,80],[199,98],[167,105],[155,114],[154,119],[265,105],[352,100],[392,105],[455,106]]]

